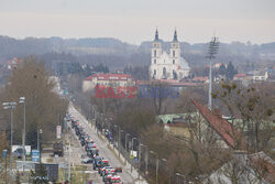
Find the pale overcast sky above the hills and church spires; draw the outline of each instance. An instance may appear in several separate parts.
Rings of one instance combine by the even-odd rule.
[[[275,0],[0,0],[0,35],[154,39],[189,43],[275,41]]]

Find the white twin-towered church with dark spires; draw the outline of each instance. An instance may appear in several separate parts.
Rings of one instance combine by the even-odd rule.
[[[177,32],[170,43],[168,52],[162,50],[162,42],[158,32],[155,32],[155,40],[152,45],[150,76],[152,79],[177,79],[189,76],[190,67],[180,56],[180,45],[177,40]]]

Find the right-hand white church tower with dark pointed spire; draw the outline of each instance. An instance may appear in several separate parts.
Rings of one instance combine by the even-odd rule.
[[[177,31],[175,30],[174,32],[174,39],[173,42],[170,43],[170,58],[172,58],[172,64],[173,65],[179,65],[180,62],[180,45],[177,40]]]

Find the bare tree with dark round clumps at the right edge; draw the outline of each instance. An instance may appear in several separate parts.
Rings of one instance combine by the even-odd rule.
[[[268,152],[273,147],[271,142],[275,131],[272,126],[274,91],[274,86],[270,84],[242,87],[224,82],[212,94],[213,98],[220,100],[224,113],[231,117],[231,127],[245,136],[246,149],[251,152]]]

